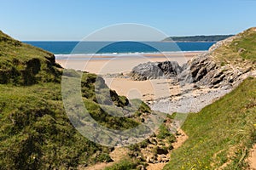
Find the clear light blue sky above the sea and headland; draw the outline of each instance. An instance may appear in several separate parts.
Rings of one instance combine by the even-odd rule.
[[[0,0],[0,30],[20,40],[80,40],[117,23],[170,36],[235,34],[256,26],[256,0]]]

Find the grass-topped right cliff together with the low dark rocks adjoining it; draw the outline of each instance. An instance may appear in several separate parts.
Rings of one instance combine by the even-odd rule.
[[[177,62],[146,63],[131,71],[131,79],[148,80],[177,77],[181,83],[197,83],[210,88],[241,82],[256,69],[256,28],[217,42],[182,67]]]

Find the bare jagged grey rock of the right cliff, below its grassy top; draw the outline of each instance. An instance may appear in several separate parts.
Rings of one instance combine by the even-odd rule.
[[[231,86],[241,80],[241,75],[250,71],[250,68],[240,68],[237,65],[221,65],[216,61],[212,52],[232,42],[236,37],[229,37],[226,40],[214,44],[208,52],[195,56],[183,65],[183,71],[179,74],[178,80],[183,83],[197,83],[198,85],[218,88]]]

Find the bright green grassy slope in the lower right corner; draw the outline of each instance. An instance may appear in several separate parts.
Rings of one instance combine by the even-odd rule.
[[[183,130],[189,139],[172,152],[165,169],[243,169],[256,143],[256,79],[247,78],[222,99],[189,114]]]

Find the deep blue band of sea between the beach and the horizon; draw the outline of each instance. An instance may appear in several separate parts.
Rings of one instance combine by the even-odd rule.
[[[53,54],[133,54],[206,51],[214,42],[26,42]]]

